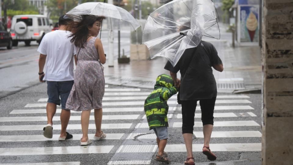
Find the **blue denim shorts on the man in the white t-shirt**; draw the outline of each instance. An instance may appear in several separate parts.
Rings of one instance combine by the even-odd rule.
[[[66,101],[74,81],[47,81],[48,103],[60,105],[66,109]]]

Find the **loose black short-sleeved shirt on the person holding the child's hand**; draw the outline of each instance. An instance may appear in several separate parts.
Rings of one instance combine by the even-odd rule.
[[[215,47],[205,41],[186,49],[175,67],[168,61],[165,69],[177,73],[180,70],[180,100],[211,99],[217,96],[217,86],[212,66],[222,64]]]

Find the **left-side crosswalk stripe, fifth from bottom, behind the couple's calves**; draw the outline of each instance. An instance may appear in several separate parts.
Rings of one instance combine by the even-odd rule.
[[[131,120],[137,119],[139,115],[103,115],[102,120]],[[70,120],[80,120],[80,116],[70,116]],[[95,120],[95,116],[90,116],[90,120]],[[24,116],[24,117],[0,117],[0,122],[13,121],[47,121],[47,116]],[[53,121],[60,121],[59,116],[53,117]]]

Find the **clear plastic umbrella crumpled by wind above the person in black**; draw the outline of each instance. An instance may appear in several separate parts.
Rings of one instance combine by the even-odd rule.
[[[173,0],[149,15],[143,44],[148,47],[151,59],[166,57],[175,66],[184,51],[196,47],[202,36],[216,38],[214,32],[207,31],[212,26],[219,29],[217,23],[211,0]]]

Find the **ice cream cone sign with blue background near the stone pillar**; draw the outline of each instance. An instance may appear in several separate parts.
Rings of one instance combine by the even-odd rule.
[[[239,42],[259,41],[259,5],[239,5]]]

